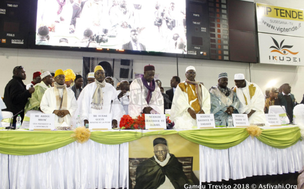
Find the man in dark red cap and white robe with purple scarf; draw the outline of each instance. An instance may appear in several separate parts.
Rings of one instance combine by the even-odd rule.
[[[144,67],[143,76],[131,83],[129,96],[131,117],[137,117],[141,113],[162,114],[164,112],[164,98],[154,80],[154,75],[154,66],[147,65]]]

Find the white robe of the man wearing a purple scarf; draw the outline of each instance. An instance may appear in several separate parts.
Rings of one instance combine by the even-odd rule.
[[[160,87],[156,83],[156,88],[152,92],[149,104],[146,101],[148,89],[143,85],[141,78],[135,79],[130,85],[129,115],[137,117],[145,107],[151,107],[151,113],[162,114],[164,112],[164,98]]]

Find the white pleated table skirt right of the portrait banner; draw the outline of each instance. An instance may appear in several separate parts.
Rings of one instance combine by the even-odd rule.
[[[285,149],[248,137],[229,149],[200,145],[200,181],[242,179],[255,175],[294,173],[304,165],[304,141]]]

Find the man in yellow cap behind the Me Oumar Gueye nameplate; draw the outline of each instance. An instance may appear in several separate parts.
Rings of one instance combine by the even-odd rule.
[[[112,127],[123,116],[122,106],[117,98],[116,89],[105,82],[105,72],[101,66],[94,70],[95,82],[88,84],[77,100],[80,118],[89,123],[89,114],[111,114]]]

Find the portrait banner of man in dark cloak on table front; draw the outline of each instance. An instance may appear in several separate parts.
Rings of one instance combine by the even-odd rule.
[[[178,134],[129,142],[129,189],[199,185],[199,144]]]

